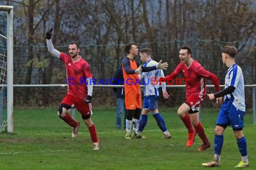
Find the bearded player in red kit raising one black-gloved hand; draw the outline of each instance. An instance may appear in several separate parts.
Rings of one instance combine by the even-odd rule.
[[[51,40],[52,31],[46,33],[46,42],[48,51],[54,56],[58,57],[66,66],[68,92],[66,97],[62,100],[62,103],[58,109],[58,116],[64,120],[68,125],[73,127],[72,138],[75,138],[78,134],[78,128],[80,123],[71,118],[67,113],[67,110],[71,109],[72,105],[75,105],[76,109],[82,115],[82,119],[89,129],[91,139],[93,141],[93,150],[99,150],[99,140],[95,125],[93,124],[90,115],[92,112],[92,95],[93,95],[93,78],[89,64],[79,55],[79,44],[70,43],[69,55],[57,51],[53,47]]]

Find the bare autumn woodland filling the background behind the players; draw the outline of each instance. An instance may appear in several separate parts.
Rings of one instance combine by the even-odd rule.
[[[227,70],[221,61],[221,49],[235,46],[245,84],[256,84],[256,21],[252,17],[256,16],[255,0],[83,0],[74,1],[66,10],[69,3],[3,0],[3,5],[14,7],[14,85],[66,83],[64,64],[46,47],[45,32],[52,27],[55,48],[67,53],[71,41],[79,42],[80,55],[88,61],[97,80],[112,78],[126,55],[125,44],[135,42],[140,49],[150,47],[156,61],[168,62],[165,75],[180,62],[179,48],[188,45],[192,57],[216,74],[221,84]],[[0,32],[5,34],[3,15],[0,13]],[[0,44],[1,50],[5,49]],[[139,57],[136,59],[140,63]],[[171,98],[160,102],[175,106],[184,100],[180,97],[184,90],[170,89]],[[15,88],[14,105],[50,106],[60,102],[65,93],[66,88],[57,87]],[[248,107],[252,107],[250,94],[247,88]],[[94,88],[93,96],[94,105],[114,104],[112,89]]]

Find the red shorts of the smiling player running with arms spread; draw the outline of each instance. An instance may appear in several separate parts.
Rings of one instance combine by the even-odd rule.
[[[199,111],[200,104],[203,103],[203,100],[205,99],[206,95],[186,95],[186,103],[190,106],[191,110],[193,111]]]

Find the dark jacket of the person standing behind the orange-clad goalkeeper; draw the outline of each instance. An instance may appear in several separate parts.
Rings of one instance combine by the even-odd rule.
[[[122,66],[120,66],[114,76],[114,80],[112,81],[112,85],[124,85],[124,75]],[[116,98],[124,98],[124,87],[114,87],[115,97]]]

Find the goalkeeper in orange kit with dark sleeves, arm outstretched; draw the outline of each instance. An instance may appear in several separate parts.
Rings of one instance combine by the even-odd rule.
[[[168,67],[167,63],[162,63],[162,60],[159,61],[157,66],[153,67],[142,67],[139,66],[136,61],[133,59],[138,55],[138,47],[135,43],[130,43],[125,46],[124,51],[127,53],[127,56],[123,59],[122,68],[124,75],[124,91],[125,91],[125,109],[127,111],[126,118],[126,135],[125,139],[132,139],[133,137],[142,139],[138,133],[140,115],[141,115],[141,89],[140,89],[140,78],[138,74],[142,72],[150,72],[156,69],[166,70]],[[133,124],[133,134],[130,134]]]

